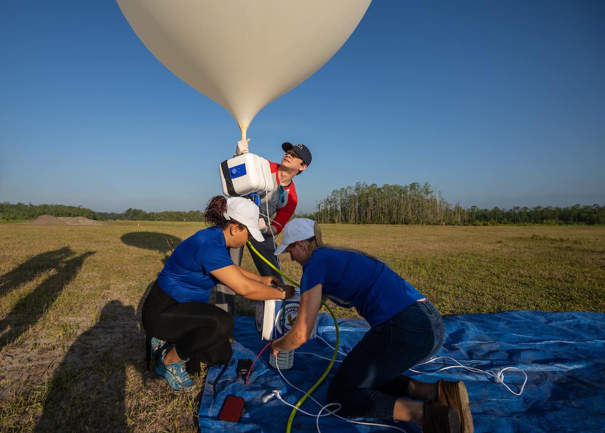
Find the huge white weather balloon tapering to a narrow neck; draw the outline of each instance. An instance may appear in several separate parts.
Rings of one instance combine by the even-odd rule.
[[[342,47],[371,0],[117,0],[143,44],[222,105],[242,139],[269,102]]]

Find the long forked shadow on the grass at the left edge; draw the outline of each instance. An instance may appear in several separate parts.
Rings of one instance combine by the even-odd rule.
[[[84,260],[93,254],[93,251],[89,251],[67,259],[73,255],[73,251],[69,247],[63,247],[59,250],[39,254],[2,276],[0,279],[2,291],[0,293],[4,294],[10,290],[15,290],[27,281],[31,281],[39,272],[56,271],[28,295],[19,299],[15,307],[0,320],[0,350],[7,343],[18,339],[28,327],[38,322],[44,311],[50,308],[60,295],[63,288],[75,278]],[[6,290],[4,290],[5,288]]]

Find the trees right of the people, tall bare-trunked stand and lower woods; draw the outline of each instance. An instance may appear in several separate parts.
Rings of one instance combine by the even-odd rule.
[[[333,190],[316,203],[315,212],[299,216],[342,224],[605,224],[605,206],[464,209],[445,201],[427,182],[381,187],[358,182]]]

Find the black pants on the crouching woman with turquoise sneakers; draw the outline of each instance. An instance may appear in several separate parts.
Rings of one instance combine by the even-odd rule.
[[[189,359],[187,371],[200,372],[200,363],[225,364],[232,356],[229,336],[233,333],[231,314],[204,302],[178,302],[154,283],[142,311],[147,339],[147,357],[151,338],[174,343],[180,359]]]

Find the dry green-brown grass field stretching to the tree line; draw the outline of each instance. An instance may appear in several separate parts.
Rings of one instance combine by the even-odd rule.
[[[166,239],[200,228],[0,226],[0,430],[195,431],[195,394],[145,370],[140,301],[170,253]],[[386,259],[442,314],[605,312],[605,227],[322,230],[328,243]],[[243,265],[254,270],[247,252]],[[283,270],[299,281],[287,255]],[[253,302],[238,302],[238,314],[253,313]]]

